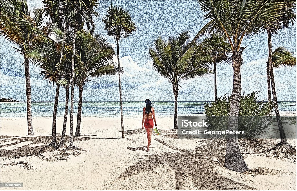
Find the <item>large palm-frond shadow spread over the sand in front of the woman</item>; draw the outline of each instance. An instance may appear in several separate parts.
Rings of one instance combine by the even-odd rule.
[[[198,190],[255,190],[244,183],[236,182],[217,172],[224,169],[225,153],[219,145],[224,140],[208,140],[194,151],[186,151],[168,144],[162,139],[155,139],[159,143],[178,152],[151,153],[130,165],[116,180],[110,183],[111,188],[121,184],[122,180],[129,179],[141,172],[155,173],[155,168],[164,166],[174,170],[176,190],[188,190],[187,179],[192,179]],[[204,141],[203,141],[204,142]],[[212,147],[209,147],[212,145]],[[142,147],[132,148],[141,150]],[[128,148],[131,150],[131,148]],[[122,185],[121,185],[122,186]],[[161,189],[161,188],[160,188]]]

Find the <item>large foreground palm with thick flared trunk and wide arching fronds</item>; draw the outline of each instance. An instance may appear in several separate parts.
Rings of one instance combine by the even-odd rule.
[[[246,36],[259,33],[261,28],[273,27],[286,6],[285,1],[214,1],[199,0],[200,9],[210,21],[198,32],[196,38],[216,33],[227,36],[232,49],[233,89],[230,97],[228,130],[236,130],[241,96],[241,65],[243,64],[241,43]],[[238,145],[238,136],[227,139],[225,167],[233,171],[247,170]]]

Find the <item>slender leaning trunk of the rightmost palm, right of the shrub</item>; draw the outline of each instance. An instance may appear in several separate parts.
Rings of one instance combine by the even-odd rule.
[[[284,128],[282,126],[282,121],[279,116],[279,110],[277,105],[277,93],[275,91],[275,84],[274,84],[274,74],[273,74],[273,66],[272,66],[272,45],[271,45],[271,31],[267,30],[268,35],[268,63],[269,63],[269,69],[270,69],[270,79],[271,79],[271,89],[272,89],[272,97],[274,102],[274,110],[275,115],[277,118],[277,124],[279,127],[279,133],[280,133],[280,144],[288,144]]]

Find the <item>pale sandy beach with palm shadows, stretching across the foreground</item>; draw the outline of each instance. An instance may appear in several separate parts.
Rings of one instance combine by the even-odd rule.
[[[149,152],[144,151],[147,139],[145,130],[141,129],[141,118],[124,119],[125,139],[119,139],[118,118],[83,117],[82,136],[74,138],[74,145],[85,150],[80,155],[62,159],[56,156],[59,151],[55,151],[34,156],[51,141],[51,120],[33,118],[37,136],[24,136],[25,118],[1,118],[1,182],[24,183],[23,188],[5,189],[296,189],[296,161],[267,153],[243,154],[249,171],[230,171],[224,167],[224,139],[176,139],[175,131],[170,130],[173,126],[170,117],[157,121],[161,135],[152,136]],[[57,120],[58,141],[62,120]],[[296,147],[296,139],[288,141]],[[239,144],[242,153],[254,153],[278,142],[277,139],[240,140]]]

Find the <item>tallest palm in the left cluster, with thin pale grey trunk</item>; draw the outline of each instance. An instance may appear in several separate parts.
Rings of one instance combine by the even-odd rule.
[[[71,98],[70,98],[70,134],[69,134],[69,147],[67,149],[72,150],[73,147],[73,99],[74,99],[74,63],[75,63],[75,42],[76,42],[76,34],[78,28],[83,26],[86,23],[87,28],[90,27],[90,24],[94,26],[94,22],[92,20],[92,16],[98,16],[99,13],[94,9],[98,7],[97,0],[78,0],[78,1],[66,1],[64,4],[66,13],[66,20],[72,25],[73,28],[73,36],[72,36],[72,64],[71,64]]]

